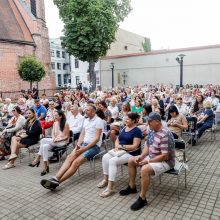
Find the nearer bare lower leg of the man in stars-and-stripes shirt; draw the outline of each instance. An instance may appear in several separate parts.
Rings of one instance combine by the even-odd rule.
[[[150,177],[154,175],[154,170],[150,165],[144,165],[141,168],[141,192],[140,197],[146,199],[146,193],[150,185]]]

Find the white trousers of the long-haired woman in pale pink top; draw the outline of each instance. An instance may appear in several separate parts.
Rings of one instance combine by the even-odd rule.
[[[66,141],[60,141],[54,143],[52,138],[43,138],[40,141],[40,149],[38,154],[43,157],[43,161],[48,161],[48,152],[51,150],[53,147],[61,147],[66,144]]]

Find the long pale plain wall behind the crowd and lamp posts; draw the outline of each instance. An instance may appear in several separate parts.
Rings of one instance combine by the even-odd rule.
[[[220,84],[220,45],[185,49],[153,51],[101,60],[101,86],[111,87],[114,63],[114,85],[134,86],[143,84],[180,84],[179,54],[183,59],[183,84]]]

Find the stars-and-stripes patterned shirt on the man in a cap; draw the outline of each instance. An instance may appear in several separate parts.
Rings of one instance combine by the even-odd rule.
[[[169,159],[166,162],[171,168],[174,167],[175,142],[171,132],[167,128],[162,127],[157,132],[149,130],[146,146],[149,148],[150,158],[168,153]]]

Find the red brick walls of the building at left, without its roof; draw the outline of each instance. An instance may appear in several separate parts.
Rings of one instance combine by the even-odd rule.
[[[14,2],[19,6],[18,9],[28,25],[36,44],[36,49],[28,45],[0,43],[0,91],[29,89],[29,83],[22,81],[18,75],[17,64],[19,57],[33,54],[44,63],[47,72],[45,78],[39,83],[39,89],[54,89],[56,82],[55,74],[50,70],[51,59],[46,24],[40,19],[32,20],[31,17],[25,13],[24,8],[19,5],[19,1]],[[36,2],[41,4],[43,0]],[[40,10],[40,8],[43,9],[43,6],[38,5],[38,10]],[[13,8],[13,10],[15,9]],[[14,11],[14,13],[17,14],[18,11]],[[44,14],[44,12],[42,12],[42,14]]]

